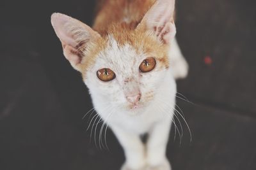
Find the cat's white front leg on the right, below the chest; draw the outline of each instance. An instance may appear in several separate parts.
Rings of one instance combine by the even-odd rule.
[[[166,146],[170,133],[171,121],[164,120],[156,124],[149,132],[147,141],[147,164],[150,170],[170,170],[166,159]]]

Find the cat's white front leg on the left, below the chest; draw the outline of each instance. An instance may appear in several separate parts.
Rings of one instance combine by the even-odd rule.
[[[111,127],[120,145],[124,148],[125,164],[122,170],[144,170],[145,169],[145,146],[140,136],[127,132],[120,127]]]

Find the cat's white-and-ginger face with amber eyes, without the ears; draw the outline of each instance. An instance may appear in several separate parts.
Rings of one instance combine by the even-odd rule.
[[[81,67],[80,71],[93,96],[120,110],[136,113],[150,104],[164,80],[169,67],[167,48],[150,34],[122,33],[129,34],[129,39],[108,34],[97,45],[101,46],[99,52],[93,52],[92,66]]]

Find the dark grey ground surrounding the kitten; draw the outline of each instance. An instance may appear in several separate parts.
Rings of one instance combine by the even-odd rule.
[[[118,169],[122,148],[108,130],[108,150],[86,132],[92,108],[81,76],[62,55],[54,11],[92,23],[93,1],[1,1],[0,169]],[[177,39],[190,71],[177,99],[181,145],[170,135],[173,170],[256,169],[256,3],[178,0]],[[212,64],[204,64],[211,56]],[[181,96],[180,96],[181,97]]]

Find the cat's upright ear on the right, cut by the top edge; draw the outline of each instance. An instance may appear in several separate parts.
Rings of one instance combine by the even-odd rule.
[[[156,0],[136,29],[154,32],[160,41],[170,43],[176,34],[174,9],[175,0]]]

